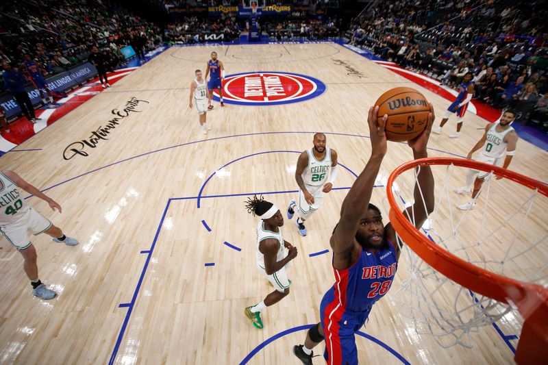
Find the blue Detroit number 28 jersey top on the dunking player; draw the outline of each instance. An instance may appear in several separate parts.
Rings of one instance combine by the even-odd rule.
[[[349,312],[366,312],[384,297],[392,285],[397,270],[396,249],[388,241],[388,247],[375,253],[362,250],[358,261],[351,267],[333,270],[336,280],[330,291],[334,301],[328,306],[335,309],[340,305]]]

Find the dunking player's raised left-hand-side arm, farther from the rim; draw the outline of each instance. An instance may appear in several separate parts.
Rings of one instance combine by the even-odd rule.
[[[388,116],[385,115],[382,118],[382,123],[379,125],[377,123],[378,112],[378,106],[369,109],[367,123],[371,136],[371,156],[364,170],[358,176],[358,179],[354,181],[345,201],[343,201],[343,206],[340,208],[340,219],[330,240],[334,253],[333,266],[340,270],[344,270],[350,266],[353,256],[356,258],[359,256],[359,254],[352,255],[353,249],[360,250],[360,246],[355,238],[356,231],[358,231],[360,219],[369,206],[373,185],[379,173],[382,159],[386,154],[384,125]]]

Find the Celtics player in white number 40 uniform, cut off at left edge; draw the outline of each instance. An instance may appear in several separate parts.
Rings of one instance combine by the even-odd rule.
[[[0,172],[0,234],[23,255],[23,268],[32,285],[32,294],[42,299],[52,299],[55,292],[46,288],[38,278],[36,249],[27,236],[27,230],[37,234],[49,234],[55,242],[75,246],[78,241],[66,237],[60,228],[55,227],[45,216],[36,212],[23,197],[19,188],[46,201],[51,209],[61,212],[61,206],[46,194],[27,183],[13,171]]]

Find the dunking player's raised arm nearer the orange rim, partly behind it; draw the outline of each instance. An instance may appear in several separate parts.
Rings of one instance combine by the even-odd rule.
[[[413,140],[408,141],[409,147],[413,150],[413,159],[427,158],[427,144],[430,132],[432,131],[432,125],[434,124],[434,107],[432,103],[429,103],[430,112],[428,114],[428,124],[426,125],[423,133],[419,134]],[[416,228],[423,226],[423,223],[428,218],[428,214],[434,211],[434,176],[430,165],[425,164],[419,166],[419,175],[416,176],[416,183],[413,191],[414,203],[412,206],[403,210],[403,215],[414,224]],[[388,223],[384,228],[386,232],[386,238],[390,242],[396,242],[396,232],[391,223]],[[400,242],[403,244],[403,242]],[[396,244],[397,255],[399,257],[400,247]]]

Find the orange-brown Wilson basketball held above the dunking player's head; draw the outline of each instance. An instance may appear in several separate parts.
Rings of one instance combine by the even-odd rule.
[[[419,136],[428,123],[428,101],[412,88],[393,88],[385,92],[375,105],[379,106],[377,122],[388,115],[386,138],[393,142],[412,140]]]

